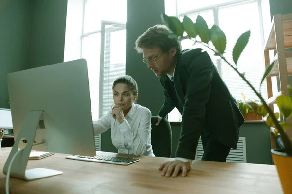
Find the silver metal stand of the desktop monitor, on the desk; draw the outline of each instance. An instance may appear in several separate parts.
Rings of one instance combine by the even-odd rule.
[[[10,177],[19,178],[22,180],[35,180],[39,178],[46,178],[55,175],[63,174],[62,171],[56,171],[46,168],[34,168],[26,170],[27,162],[29,160],[29,155],[34,144],[34,139],[37,132],[37,127],[39,123],[39,119],[42,115],[43,111],[30,111],[21,127],[21,130],[18,133],[16,141],[12,147],[12,150],[8,156],[8,159],[4,165],[3,173],[7,175],[8,166],[14,157],[14,155],[18,151],[18,144],[20,141],[25,138],[27,143],[23,150],[18,153],[11,166]]]

